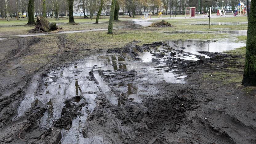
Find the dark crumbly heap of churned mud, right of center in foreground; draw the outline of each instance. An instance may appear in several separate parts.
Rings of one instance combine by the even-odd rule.
[[[186,110],[193,110],[196,101],[175,96],[174,98],[147,99],[145,106],[148,108],[144,120],[150,130],[161,131],[169,127],[169,131],[177,131],[185,118]]]

